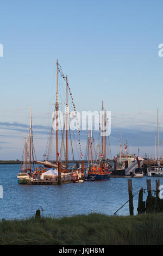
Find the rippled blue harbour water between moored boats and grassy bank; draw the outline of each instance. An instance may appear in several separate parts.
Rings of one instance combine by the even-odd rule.
[[[42,209],[44,216],[71,216],[100,212],[113,215],[128,200],[127,178],[110,178],[108,181],[72,183],[61,186],[20,185],[17,183],[19,164],[0,165],[0,185],[3,199],[0,199],[0,218],[26,218]],[[160,185],[163,185],[163,177]],[[146,179],[133,178],[133,194],[146,188]],[[152,189],[155,189],[155,179]],[[145,200],[147,193],[143,195]],[[138,194],[134,197],[134,214],[137,214]],[[117,215],[129,215],[128,203]]]

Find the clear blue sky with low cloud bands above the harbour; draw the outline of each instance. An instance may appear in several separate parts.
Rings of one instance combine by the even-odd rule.
[[[120,131],[132,151],[154,154],[157,108],[163,127],[162,7],[150,0],[1,1],[0,159],[21,158],[26,131],[17,129],[29,123],[27,107],[35,125],[51,124],[57,58],[79,111],[100,110],[102,100],[111,111],[113,155]],[[39,158],[46,139],[36,136]]]

